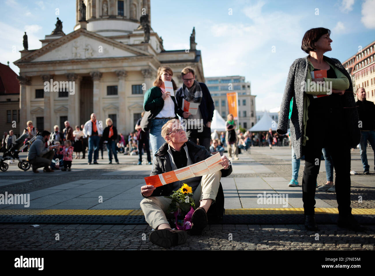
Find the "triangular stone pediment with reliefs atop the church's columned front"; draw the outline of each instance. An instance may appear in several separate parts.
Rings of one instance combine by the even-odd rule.
[[[22,57],[15,64],[148,55],[150,54],[138,48],[122,44],[94,32],[79,29]]]

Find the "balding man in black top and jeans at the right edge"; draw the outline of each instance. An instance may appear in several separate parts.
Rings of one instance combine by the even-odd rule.
[[[372,150],[374,151],[374,170],[375,170],[375,104],[366,100],[366,90],[360,87],[357,93],[357,109],[359,118],[359,128],[361,130],[361,142],[359,144],[359,152],[363,164],[363,173],[370,173],[370,166],[367,161],[367,140],[369,140]]]

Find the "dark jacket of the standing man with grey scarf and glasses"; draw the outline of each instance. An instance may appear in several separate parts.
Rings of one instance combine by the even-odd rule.
[[[206,125],[207,122],[212,121],[213,111],[215,109],[215,106],[213,104],[213,100],[211,98],[211,94],[207,86],[202,82],[198,82],[198,83],[202,89],[202,101],[199,104],[199,111],[201,112],[201,115],[202,115],[203,124]],[[182,100],[184,98],[184,91],[182,90],[182,87],[183,86],[181,86],[175,93],[176,95],[175,98],[176,98],[179,109],[182,108]],[[182,117],[182,114],[178,114],[178,115]]]

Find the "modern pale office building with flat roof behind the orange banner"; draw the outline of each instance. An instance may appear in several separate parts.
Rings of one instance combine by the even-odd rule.
[[[255,95],[251,95],[251,84],[242,76],[206,77],[206,84],[214,101],[215,109],[223,119],[228,115],[226,93],[237,92],[239,126],[251,128],[256,123]]]

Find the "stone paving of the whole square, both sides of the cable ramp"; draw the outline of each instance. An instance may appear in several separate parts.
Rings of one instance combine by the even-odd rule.
[[[371,151],[369,150],[368,153]],[[363,175],[359,150],[352,151],[351,202],[353,208],[375,207],[375,173]],[[87,165],[87,159],[75,159],[71,172],[21,171],[17,163],[7,172],[0,172],[0,193],[29,193],[29,210],[139,210],[140,187],[151,165],[136,165],[137,156],[118,155],[120,165],[108,164],[108,157],[99,165]],[[233,163],[233,174],[222,178],[225,209],[301,208],[302,187],[288,187],[291,178],[291,151],[288,147],[251,148],[251,154],[240,154]],[[374,163],[368,154],[369,163]],[[86,162],[85,162],[86,161]],[[302,182],[304,161],[301,160],[299,182]],[[41,171],[41,170],[40,170]],[[326,182],[324,160],[318,184]],[[260,205],[259,194],[288,195],[287,206]],[[99,196],[103,202],[99,203]],[[363,201],[358,201],[362,196]],[[336,208],[335,193],[316,193],[317,208]],[[24,210],[23,205],[0,205],[0,211]],[[374,249],[374,225],[356,233],[336,225],[320,225],[320,240],[303,225],[209,225],[204,235],[189,237],[188,242],[174,249]],[[0,249],[160,249],[148,241],[147,225],[97,224],[1,224]],[[60,233],[60,241],[55,241]],[[144,235],[145,234],[145,235]],[[231,234],[231,235],[229,235]],[[53,237],[51,236],[53,235]],[[22,238],[20,238],[22,236]],[[51,237],[50,237],[51,236]],[[146,236],[146,240],[142,237]],[[233,240],[228,240],[233,236]],[[50,240],[49,242],[45,242]],[[12,247],[10,247],[12,244]]]

